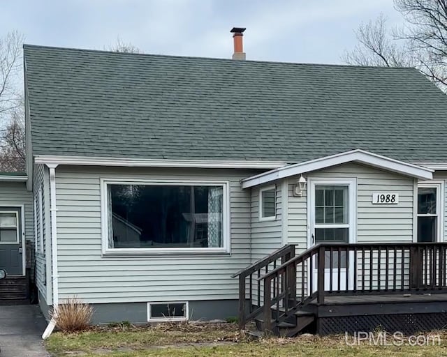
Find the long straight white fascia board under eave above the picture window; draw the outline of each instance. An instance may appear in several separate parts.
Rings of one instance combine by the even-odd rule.
[[[36,155],[36,164],[82,165],[82,166],[124,166],[124,167],[196,167],[212,169],[277,169],[286,162],[244,161],[244,160],[163,160],[131,158],[94,158],[83,156]]]

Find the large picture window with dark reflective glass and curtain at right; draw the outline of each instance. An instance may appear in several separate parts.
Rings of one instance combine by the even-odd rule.
[[[106,182],[107,249],[223,250],[226,184]]]

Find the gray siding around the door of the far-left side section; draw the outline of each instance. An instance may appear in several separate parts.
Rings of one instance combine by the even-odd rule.
[[[24,206],[25,239],[34,246],[33,199],[24,182],[0,182],[1,206]],[[31,277],[34,274],[34,258],[31,255]]]

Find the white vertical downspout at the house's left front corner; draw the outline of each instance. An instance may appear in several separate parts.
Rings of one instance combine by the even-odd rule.
[[[57,164],[47,164],[50,169],[50,213],[51,213],[51,256],[52,256],[52,292],[53,310],[59,303],[59,273],[57,268],[57,205],[56,205],[56,167]],[[54,317],[43,332],[42,338],[49,337],[56,326]]]

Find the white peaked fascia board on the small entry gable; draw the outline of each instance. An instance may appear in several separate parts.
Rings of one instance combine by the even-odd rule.
[[[326,156],[298,164],[287,165],[279,169],[273,169],[263,174],[248,177],[241,181],[242,188],[251,188],[256,185],[262,185],[275,180],[284,179],[286,177],[312,172],[325,167],[342,165],[346,162],[360,162],[365,165],[377,167],[390,172],[397,172],[406,176],[416,177],[417,179],[431,180],[433,178],[433,170],[418,165],[409,164],[399,160],[386,158],[385,156],[369,153],[360,149],[338,153],[336,155]]]

